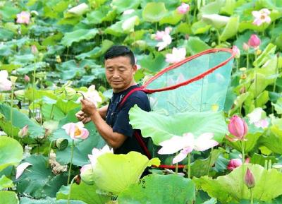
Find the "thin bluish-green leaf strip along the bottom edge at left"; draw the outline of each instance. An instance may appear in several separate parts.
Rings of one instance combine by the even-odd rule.
[[[20,198],[20,204],[86,204],[81,200],[56,200],[56,198],[44,198],[44,199],[32,199],[32,198]],[[104,204],[104,203],[103,203]]]

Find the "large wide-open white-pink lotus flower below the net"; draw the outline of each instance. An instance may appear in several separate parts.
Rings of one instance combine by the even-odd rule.
[[[159,143],[162,148],[158,153],[160,155],[169,155],[180,150],[180,153],[173,158],[173,164],[176,164],[184,160],[192,150],[204,151],[219,145],[216,140],[212,140],[213,137],[213,133],[203,133],[198,138],[195,138],[192,133],[184,133],[183,136],[173,136]]]

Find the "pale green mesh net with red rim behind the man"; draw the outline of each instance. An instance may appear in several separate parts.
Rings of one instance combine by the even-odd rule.
[[[143,85],[153,111],[219,111],[231,79],[232,49],[208,49],[164,68]]]

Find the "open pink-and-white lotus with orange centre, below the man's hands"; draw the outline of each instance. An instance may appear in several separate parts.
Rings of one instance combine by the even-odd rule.
[[[66,130],[68,136],[73,140],[82,139],[85,140],[89,136],[89,132],[84,128],[84,124],[80,121],[78,123],[68,123],[62,126]]]

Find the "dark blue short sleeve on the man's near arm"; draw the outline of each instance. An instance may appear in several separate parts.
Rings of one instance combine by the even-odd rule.
[[[140,109],[145,109],[145,103],[140,97],[128,97],[121,107],[121,111],[118,112],[118,115],[116,116],[116,122],[113,126],[114,132],[121,133],[128,137],[133,136],[133,127],[129,124],[128,112],[135,104],[137,104]]]

